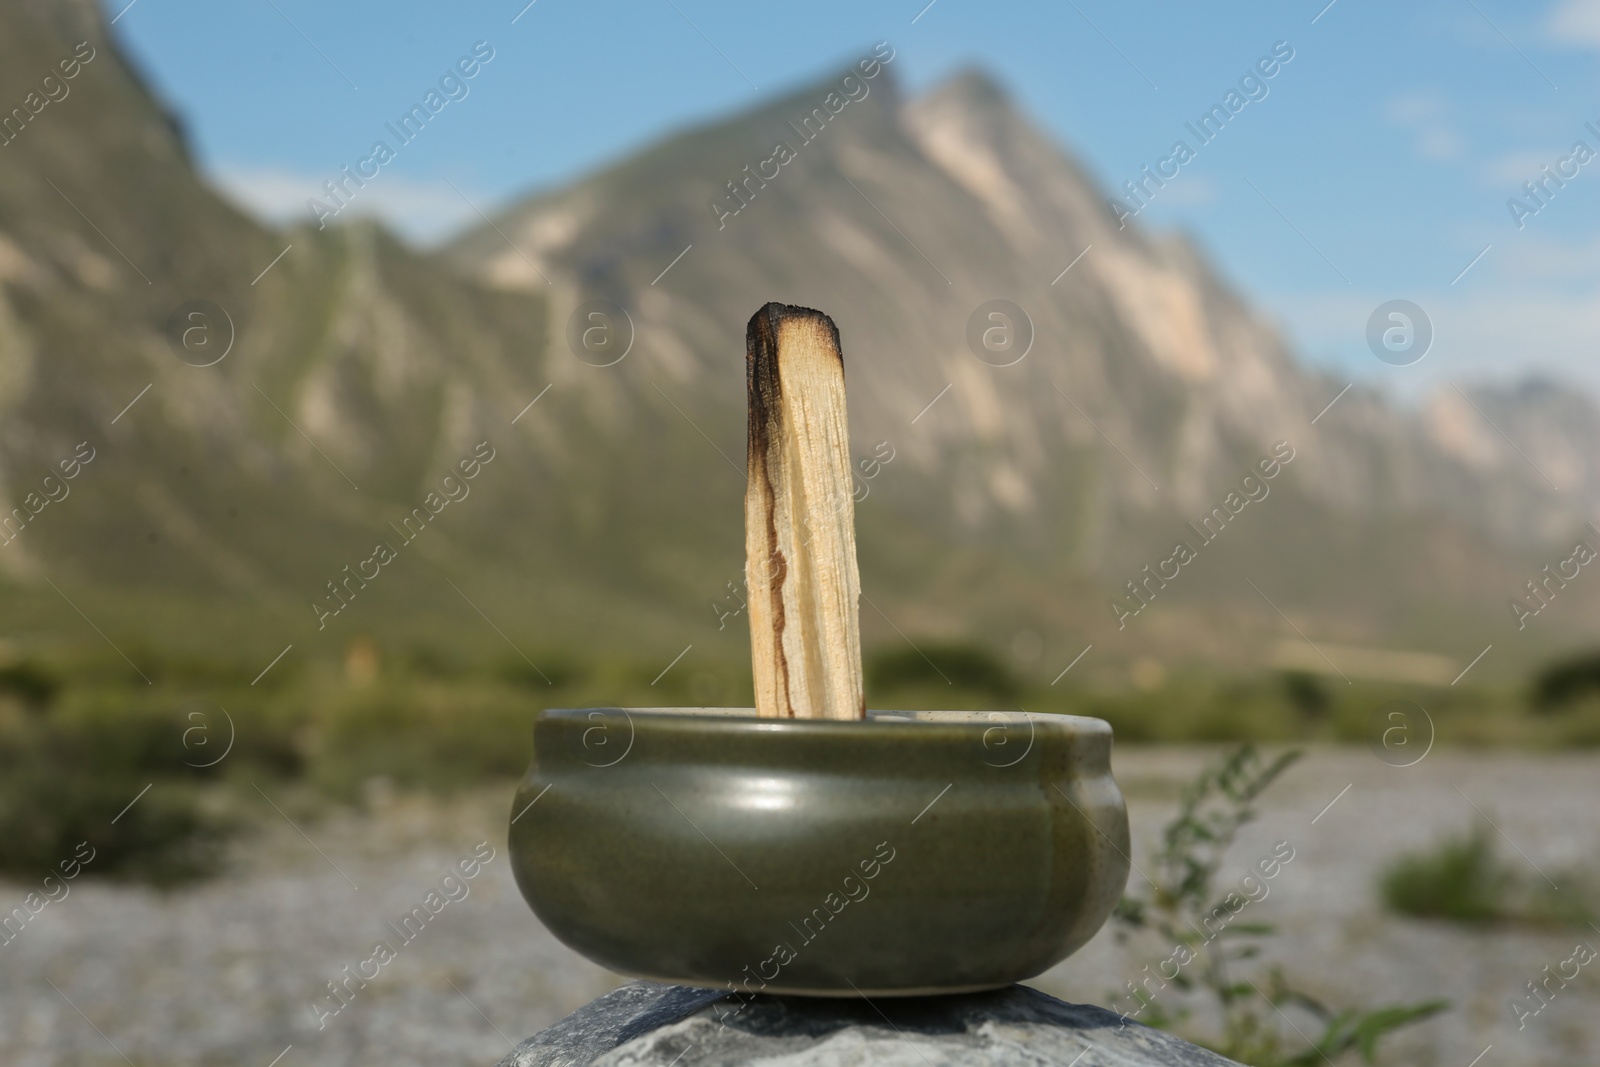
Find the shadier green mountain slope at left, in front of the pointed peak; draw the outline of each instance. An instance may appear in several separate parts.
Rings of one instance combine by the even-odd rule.
[[[362,630],[509,653],[477,608],[574,643],[618,616],[648,630],[659,609],[630,577],[670,549],[602,498],[643,494],[688,443],[622,462],[550,398],[514,426],[550,382],[547,302],[373,226],[272,232],[240,214],[91,0],[8,5],[0,99],[24,106],[80,45],[62,99],[0,147],[0,499],[24,509],[0,547],[10,633],[90,645],[99,627],[134,662],[149,646],[266,664]],[[213,366],[174,344],[190,301],[222,310],[213,349],[230,320]],[[448,502],[442,480],[462,485],[480,442],[494,459]],[[93,459],[62,483],[80,443]],[[429,493],[446,502],[411,545],[403,520]],[[693,504],[661,512],[688,537],[709,525]],[[398,560],[344,585],[379,541]],[[342,603],[328,582],[358,593],[333,621],[314,606]]]

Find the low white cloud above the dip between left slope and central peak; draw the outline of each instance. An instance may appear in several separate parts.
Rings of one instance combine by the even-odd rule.
[[[306,206],[312,197],[328,203],[322,184],[326,174],[304,174],[277,166],[224,163],[210,173],[211,182],[240,208],[272,224],[314,222]],[[474,197],[482,206],[483,198]],[[387,171],[366,182],[339,218],[376,218],[405,238],[429,245],[477,219],[477,211],[446,182],[414,182]]]

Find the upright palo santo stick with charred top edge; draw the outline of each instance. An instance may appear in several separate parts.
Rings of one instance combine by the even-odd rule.
[[[845,362],[834,320],[789,304],[755,312],[746,381],[744,569],[755,712],[866,718]]]

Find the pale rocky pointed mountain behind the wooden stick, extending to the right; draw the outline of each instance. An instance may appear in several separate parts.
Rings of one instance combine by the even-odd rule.
[[[642,410],[659,403],[651,389],[694,397],[698,426],[733,456],[746,309],[827,309],[846,344],[858,451],[896,450],[862,523],[906,512],[1022,569],[1019,598],[995,598],[976,625],[922,603],[917,629],[1061,633],[1070,619],[1077,645],[1053,641],[1059,662],[1096,633],[1115,646],[1126,630],[1109,595],[1189,541],[1203,555],[1194,576],[1150,587],[1154,617],[1125,621],[1149,622],[1141,637],[1157,648],[1238,659],[1262,619],[1283,629],[1283,606],[1323,640],[1461,654],[1453,641],[1482,648],[1514,619],[1504,601],[1528,563],[1582,533],[1600,498],[1587,398],[1451,392],[1413,416],[1352,389],[1318,418],[1346,382],[1296,362],[1192,243],[1120,229],[1083,168],[984,74],[902,101],[885,72],[821,133],[802,126],[842,77],[531,197],[450,254],[490,283],[552,291],[557,320],[597,296],[626,306],[642,355],[586,386]],[[762,160],[774,144],[794,158],[750,182],[747,166],[773,173]],[[739,200],[728,181],[744,182]],[[1034,326],[1010,366],[976,358],[966,338],[995,298]],[[1510,440],[1562,472],[1560,491]],[[1277,442],[1296,459],[1270,502],[1214,545],[1198,541],[1187,523]],[[880,549],[875,563],[894,573],[899,549]],[[939,561],[917,558],[926,569],[898,568],[906,585],[973,609],[941,587]],[[864,582],[870,593],[866,563]]]

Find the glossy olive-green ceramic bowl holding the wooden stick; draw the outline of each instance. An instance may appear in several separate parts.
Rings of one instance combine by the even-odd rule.
[[[1032,977],[1101,928],[1128,809],[1098,718],[547,710],[510,857],[539,920],[622,974],[958,992]]]

